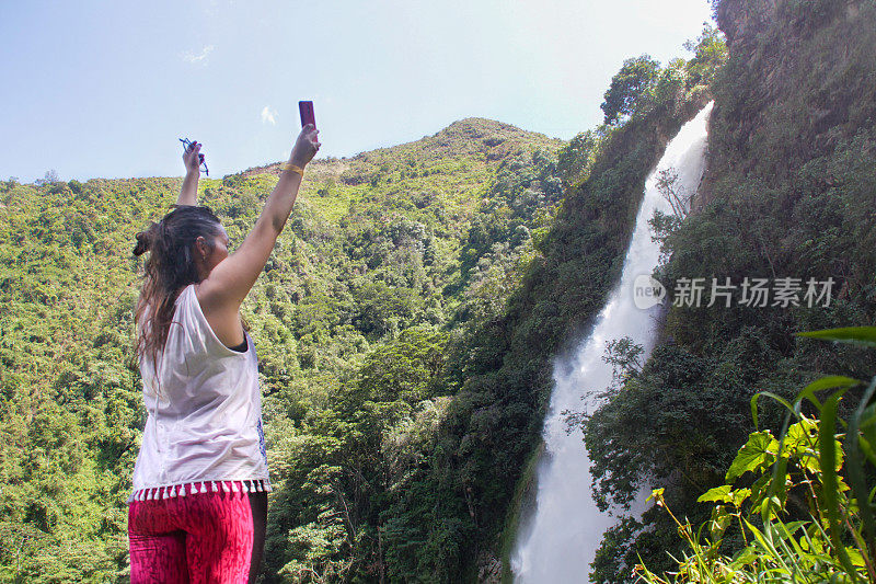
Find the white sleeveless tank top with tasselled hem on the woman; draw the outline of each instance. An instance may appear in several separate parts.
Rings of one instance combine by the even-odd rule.
[[[244,353],[227,347],[207,322],[194,284],[180,293],[158,368],[140,358],[149,415],[128,501],[147,493],[175,496],[170,493],[178,489],[157,488],[185,492],[183,485],[204,489],[209,481],[246,481],[254,491],[270,491],[258,359],[244,335]]]

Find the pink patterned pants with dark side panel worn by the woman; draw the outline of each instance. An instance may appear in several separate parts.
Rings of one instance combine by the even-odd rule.
[[[131,584],[254,581],[266,515],[267,494],[240,489],[132,501],[128,507]]]

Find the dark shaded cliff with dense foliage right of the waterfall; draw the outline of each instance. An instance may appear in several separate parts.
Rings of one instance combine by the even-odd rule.
[[[752,394],[791,400],[825,373],[872,374],[862,351],[794,333],[876,319],[876,7],[715,4],[729,59],[711,85],[708,168],[694,213],[665,239],[670,260],[658,278],[669,290],[682,277],[835,284],[827,307],[746,306],[740,289],[726,308],[705,307],[710,290],[700,307],[671,307],[645,367],[589,419],[598,500],[624,503],[647,479],[693,525],[708,513],[696,499],[724,484],[753,430]],[[776,431],[779,409],[761,412],[761,424]],[[595,579],[627,581],[637,554],[672,568],[676,528],[659,511],[623,522],[606,537]]]

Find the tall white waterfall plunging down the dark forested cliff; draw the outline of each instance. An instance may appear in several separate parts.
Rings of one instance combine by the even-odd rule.
[[[592,404],[583,401],[585,393],[606,389],[611,383],[612,367],[602,360],[607,341],[630,336],[644,347],[644,358],[654,347],[660,307],[636,308],[633,283],[636,276],[652,274],[659,256],[658,244],[650,238],[648,219],[655,209],[671,213],[657,190],[657,176],[660,170],[672,169],[678,173],[677,192],[692,193],[696,190],[703,174],[706,122],[711,111],[710,103],[667,146],[662,159],[645,183],[645,196],[620,283],[597,317],[589,336],[572,358],[554,363],[554,390],[544,421],[545,451],[538,463],[535,507],[520,526],[511,557],[515,582],[565,584],[587,581],[602,533],[614,524],[610,515],[597,508],[590,496],[590,460],[581,432],[575,428],[566,433],[563,411],[591,411]]]

